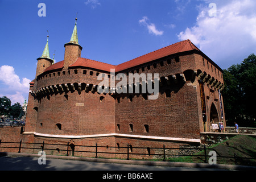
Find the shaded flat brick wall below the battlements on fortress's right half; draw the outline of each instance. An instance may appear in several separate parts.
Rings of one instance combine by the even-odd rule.
[[[172,88],[170,88],[172,89]],[[116,132],[159,137],[198,138],[196,90],[183,85],[166,96],[160,89],[158,100],[144,100],[142,94],[131,94],[133,101],[121,97],[115,104]],[[133,125],[131,131],[130,125]],[[148,131],[145,128],[148,127]]]

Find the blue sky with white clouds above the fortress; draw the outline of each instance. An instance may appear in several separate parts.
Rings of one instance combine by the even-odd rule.
[[[50,56],[61,61],[76,16],[81,57],[117,65],[191,39],[227,69],[256,53],[255,9],[254,0],[0,0],[0,97],[28,98],[47,30]]]

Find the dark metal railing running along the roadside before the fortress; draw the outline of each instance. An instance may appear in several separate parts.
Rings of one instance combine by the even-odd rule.
[[[4,144],[9,144],[9,146],[3,146]],[[11,144],[11,146],[10,146]],[[40,145],[40,147],[28,147],[27,144],[31,144],[31,145]],[[26,146],[24,146],[26,145]],[[72,143],[67,143],[67,144],[57,144],[57,143],[45,143],[43,141],[43,143],[29,143],[29,142],[22,142],[22,140],[20,139],[19,142],[2,142],[2,140],[0,139],[0,149],[1,148],[14,148],[17,149],[18,153],[21,152],[22,149],[32,149],[32,150],[39,150],[39,151],[45,151],[45,150],[52,150],[52,151],[56,151],[56,148],[46,148],[45,146],[62,146],[61,148],[57,148],[58,151],[64,151],[64,154],[69,156],[75,156],[75,152],[82,152],[82,153],[94,153],[94,157],[98,158],[100,154],[118,154],[118,155],[125,155],[125,159],[126,160],[130,160],[130,156],[131,155],[137,155],[137,156],[162,156],[162,160],[165,162],[167,156],[174,156],[175,158],[180,157],[180,156],[193,156],[193,157],[197,157],[197,158],[201,158],[203,160],[204,163],[208,163],[208,159],[212,156],[212,155],[208,155],[207,154],[207,150],[210,151],[215,151],[216,154],[218,155],[217,158],[229,158],[229,159],[233,159],[234,163],[237,164],[237,160],[238,159],[246,159],[246,160],[256,160],[256,158],[245,158],[245,157],[238,157],[237,154],[234,154],[233,156],[221,156],[220,154],[218,154],[218,152],[216,150],[214,150],[214,148],[206,148],[201,147],[201,148],[173,148],[173,147],[166,147],[163,144],[163,147],[131,147],[129,144],[127,144],[127,146],[125,147],[121,147],[121,146],[98,146],[98,144],[96,143],[94,146],[86,146],[86,145],[74,145],[72,146]],[[66,148],[66,149],[65,149]],[[75,148],[85,148],[85,150],[75,150]],[[88,150],[88,148],[90,148],[91,150]],[[106,152],[106,151],[99,151],[100,148],[118,148],[118,151],[121,151],[121,149],[123,149],[121,152]],[[141,149],[144,151],[147,151],[146,153],[143,152],[133,152],[135,149]],[[133,151],[131,151],[133,150]],[[162,152],[157,152],[157,153],[151,153],[152,150],[161,150]],[[197,150],[197,151],[204,151],[203,155],[197,155],[197,154],[167,154],[167,150],[176,150],[176,151],[181,151],[181,150]],[[115,150],[117,151],[117,150]],[[71,152],[71,154],[70,154]],[[199,153],[199,152],[197,152]]]

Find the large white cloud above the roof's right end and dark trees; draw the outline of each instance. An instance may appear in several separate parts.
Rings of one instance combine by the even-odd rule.
[[[256,53],[256,2],[220,1],[216,5],[216,16],[210,16],[212,9],[208,5],[199,6],[196,25],[180,32],[178,38],[191,39],[216,63],[225,60],[222,64],[230,66],[234,55],[237,56],[234,59],[244,59]]]

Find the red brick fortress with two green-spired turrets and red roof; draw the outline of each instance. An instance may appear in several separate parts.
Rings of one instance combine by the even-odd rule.
[[[27,141],[172,147],[200,144],[200,133],[210,131],[213,122],[223,122],[225,127],[219,92],[224,89],[223,71],[190,40],[110,65],[81,57],[75,24],[71,41],[64,47],[64,60],[53,64],[47,39],[38,58],[22,134]],[[101,73],[115,84],[102,88],[104,93],[98,92]],[[158,98],[148,99],[152,95],[148,92],[117,93],[119,73],[127,80],[131,74],[151,73],[154,77],[158,73]],[[141,90],[149,81],[124,87]]]

